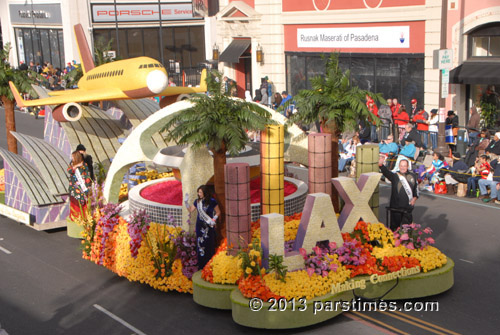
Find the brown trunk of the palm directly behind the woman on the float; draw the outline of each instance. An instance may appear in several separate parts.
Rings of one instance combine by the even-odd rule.
[[[217,223],[217,245],[220,245],[226,238],[226,182],[224,179],[224,165],[226,165],[226,146],[214,153],[214,187],[217,196],[217,202],[220,208],[220,218]]]

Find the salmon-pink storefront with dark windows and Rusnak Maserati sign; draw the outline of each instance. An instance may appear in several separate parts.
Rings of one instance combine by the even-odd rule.
[[[350,71],[354,85],[406,106],[415,98],[424,107],[424,5],[418,0],[404,6],[387,0],[283,0],[287,90],[295,95],[310,89],[310,79],[324,74],[323,57],[338,52],[340,67]]]

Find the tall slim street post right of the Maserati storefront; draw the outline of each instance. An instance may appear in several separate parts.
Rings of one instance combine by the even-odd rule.
[[[446,49],[446,29],[448,23],[448,0],[443,0],[441,5],[441,43],[440,50]],[[442,97],[443,90],[443,73],[439,71],[439,124],[438,124],[438,146],[437,152],[444,157],[448,156],[449,150],[445,139],[445,120],[446,120],[446,98]]]

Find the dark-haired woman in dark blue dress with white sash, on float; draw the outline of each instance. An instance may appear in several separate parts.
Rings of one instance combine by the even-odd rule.
[[[220,216],[220,209],[212,197],[207,185],[198,187],[198,199],[192,205],[185,200],[187,210],[191,213],[198,211],[196,217],[196,249],[198,253],[198,268],[203,269],[215,254],[215,224]]]

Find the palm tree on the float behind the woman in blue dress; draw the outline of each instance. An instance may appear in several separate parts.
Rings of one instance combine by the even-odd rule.
[[[167,139],[193,147],[207,146],[214,157],[214,186],[222,214],[225,210],[224,165],[226,152],[234,156],[248,143],[248,131],[262,130],[274,123],[271,114],[256,104],[230,97],[224,93],[222,75],[211,71],[207,76],[209,95],[193,96],[193,107],[183,110],[165,124]],[[218,236],[226,237],[224,215],[221,215]]]

